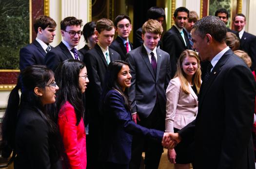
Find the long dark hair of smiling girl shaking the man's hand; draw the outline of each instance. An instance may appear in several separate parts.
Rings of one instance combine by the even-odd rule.
[[[103,88],[102,93],[102,103],[104,102],[105,96],[111,89],[116,89],[124,98],[124,105],[125,108],[130,110],[131,105],[128,98],[128,92],[127,89],[123,92],[120,85],[118,84],[118,73],[122,69],[123,65],[129,66],[127,62],[124,62],[122,60],[115,60],[109,63],[108,69],[105,75],[105,86]]]

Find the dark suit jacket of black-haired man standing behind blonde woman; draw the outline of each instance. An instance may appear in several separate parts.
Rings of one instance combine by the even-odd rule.
[[[172,26],[163,36],[163,50],[170,55],[171,67],[172,67],[172,77],[175,75],[177,70],[177,60],[180,54],[186,49],[192,49],[188,35],[185,30],[183,30],[184,37],[187,46],[185,46],[184,40],[181,37],[175,26]]]

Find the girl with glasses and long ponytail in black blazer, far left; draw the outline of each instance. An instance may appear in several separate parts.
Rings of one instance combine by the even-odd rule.
[[[1,125],[2,155],[15,169],[58,169],[58,127],[46,112],[59,87],[46,66],[24,69],[11,91]],[[19,90],[21,96],[19,95]]]

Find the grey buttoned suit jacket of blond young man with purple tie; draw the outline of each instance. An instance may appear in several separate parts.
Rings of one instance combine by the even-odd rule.
[[[128,89],[132,113],[148,117],[156,101],[165,116],[165,90],[171,79],[169,55],[157,48],[157,75],[154,74],[146,49],[140,46],[126,54],[132,75],[131,87]]]

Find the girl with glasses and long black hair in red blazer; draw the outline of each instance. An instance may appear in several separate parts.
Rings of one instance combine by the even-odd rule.
[[[56,82],[59,84],[57,111],[59,132],[64,153],[63,168],[86,169],[86,135],[83,122],[84,107],[82,94],[89,83],[83,62],[68,59],[56,69]]]

